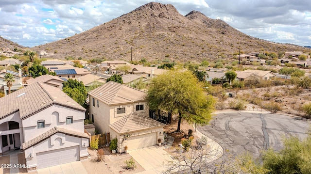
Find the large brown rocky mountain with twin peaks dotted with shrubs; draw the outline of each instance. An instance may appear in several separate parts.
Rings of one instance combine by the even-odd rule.
[[[300,46],[251,37],[197,11],[182,16],[173,5],[156,2],[86,32],[41,45],[41,50],[57,52],[55,58],[130,61],[132,52],[133,61],[146,58],[183,62],[232,58],[239,47],[245,53],[304,50]]]

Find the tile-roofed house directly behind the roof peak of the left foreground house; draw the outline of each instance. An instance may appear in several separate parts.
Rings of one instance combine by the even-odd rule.
[[[56,88],[59,88],[62,90],[64,80],[57,77],[57,76],[52,76],[49,74],[39,76],[35,79],[32,78],[32,79],[27,80],[27,84],[29,84],[29,85],[36,83],[36,82],[45,83],[45,84],[48,84],[50,86],[53,86],[53,87],[56,87]]]

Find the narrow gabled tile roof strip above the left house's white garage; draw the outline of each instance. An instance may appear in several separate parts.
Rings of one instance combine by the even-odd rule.
[[[24,142],[22,144],[23,149],[27,149],[27,148],[29,148],[29,147],[31,147],[31,146],[39,143],[39,142],[42,142],[43,140],[51,137],[53,134],[55,134],[57,132],[64,133],[67,135],[71,135],[71,136],[75,136],[75,137],[83,137],[83,138],[87,138],[87,139],[89,138],[89,136],[83,132],[77,132],[77,131],[69,130],[69,129],[66,129],[63,127],[53,127],[52,129],[44,132],[43,134],[35,137],[34,139],[29,140],[28,142]]]

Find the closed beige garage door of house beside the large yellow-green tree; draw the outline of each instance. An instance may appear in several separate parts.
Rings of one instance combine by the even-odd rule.
[[[135,150],[135,149],[155,145],[157,144],[156,143],[156,132],[128,137],[126,144],[127,144],[128,150]]]

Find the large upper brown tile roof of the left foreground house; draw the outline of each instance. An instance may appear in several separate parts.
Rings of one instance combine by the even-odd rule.
[[[16,111],[23,119],[53,104],[86,111],[60,89],[36,82],[0,98],[0,119]]]

